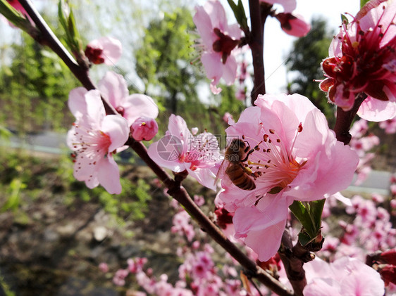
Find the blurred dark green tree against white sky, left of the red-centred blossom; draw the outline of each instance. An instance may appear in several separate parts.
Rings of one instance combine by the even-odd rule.
[[[307,96],[326,115],[330,127],[335,123],[335,108],[328,103],[326,94],[319,89],[314,79],[323,79],[321,62],[328,57],[328,46],[332,39],[333,32],[326,26],[326,20],[316,18],[312,20],[311,31],[307,36],[294,42],[286,60],[288,70],[298,73],[288,86],[289,92]]]

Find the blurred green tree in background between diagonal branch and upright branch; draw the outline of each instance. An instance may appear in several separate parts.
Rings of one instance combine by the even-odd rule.
[[[156,98],[167,110],[165,115],[181,115],[189,127],[199,119],[201,131],[219,134],[224,132],[223,109],[235,114],[243,104],[235,99],[233,87],[223,86],[218,96],[210,93],[202,65],[192,63],[199,60],[199,51],[192,45],[194,30],[192,12],[185,7],[151,20],[135,51],[136,72],[144,82],[144,94]],[[166,130],[168,116],[159,121]]]

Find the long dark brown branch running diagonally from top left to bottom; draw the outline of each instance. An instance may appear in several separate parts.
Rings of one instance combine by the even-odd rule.
[[[256,0],[258,1],[258,0]],[[61,42],[55,37],[54,33],[51,32],[51,29],[44,22],[41,15],[35,10],[35,8],[30,3],[30,0],[20,0],[20,4],[23,5],[23,8],[27,11],[27,14],[30,15],[32,20],[35,22],[37,27],[39,28],[41,35],[37,41],[40,44],[45,44],[49,46],[69,67],[71,72],[77,77],[83,86],[86,89],[95,89],[94,84],[89,78],[89,69],[82,68],[82,66],[78,65],[70,53],[64,48]],[[116,114],[116,110],[109,105],[106,101],[104,101],[104,105],[106,108],[106,114]],[[224,236],[224,234],[218,229],[218,227],[208,218],[206,215],[197,207],[195,202],[190,198],[185,188],[180,186],[180,182],[185,178],[184,172],[182,174],[175,176],[175,179],[171,179],[171,177],[163,171],[159,165],[156,164],[147,153],[146,147],[139,141],[135,141],[134,139],[128,139],[127,145],[129,145],[137,155],[139,155],[144,162],[146,162],[147,166],[156,174],[156,176],[161,179],[163,184],[168,188],[168,193],[170,193],[175,200],[178,200],[180,204],[185,207],[187,212],[199,223],[206,233],[208,233],[211,238],[213,238],[216,243],[221,245],[223,249],[228,252],[231,256],[233,256],[237,262],[239,262],[245,269],[249,270],[252,275],[257,278],[261,283],[266,285],[268,288],[276,292],[280,296],[292,296],[292,291],[285,288],[285,286],[277,281],[275,278],[266,273],[266,271],[256,266],[252,260],[247,257],[235,244],[233,244],[228,238]]]

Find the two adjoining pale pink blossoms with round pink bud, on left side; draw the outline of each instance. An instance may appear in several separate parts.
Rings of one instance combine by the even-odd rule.
[[[158,131],[154,118],[158,108],[153,99],[141,94],[129,95],[121,75],[107,72],[99,82],[99,91],[78,87],[70,91],[68,107],[76,121],[68,131],[67,143],[73,150],[74,176],[89,188],[101,184],[109,193],[120,193],[120,173],[113,155],[124,146],[130,133],[140,141],[151,139]],[[106,115],[101,96],[120,115]],[[137,127],[135,122],[139,123]]]

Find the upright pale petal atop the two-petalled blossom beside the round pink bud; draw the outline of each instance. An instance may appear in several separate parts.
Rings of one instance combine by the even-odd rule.
[[[129,95],[124,77],[113,71],[106,72],[98,83],[98,89],[114,108],[122,105],[123,99]]]

